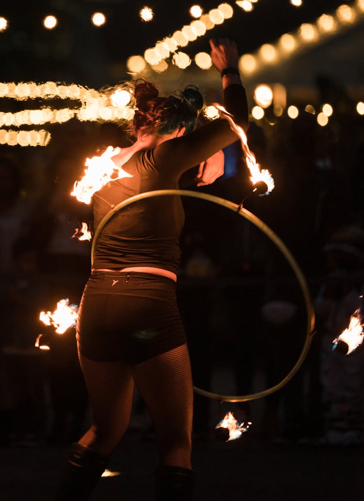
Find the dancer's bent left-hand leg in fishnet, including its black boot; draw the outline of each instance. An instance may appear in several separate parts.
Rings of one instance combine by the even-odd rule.
[[[63,467],[56,501],[85,501],[105,469],[107,456],[124,435],[130,420],[134,383],[121,362],[95,362],[79,353],[91,402],[93,422],[72,444]]]

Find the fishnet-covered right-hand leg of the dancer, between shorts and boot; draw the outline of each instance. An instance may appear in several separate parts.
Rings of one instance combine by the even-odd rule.
[[[160,465],[191,467],[193,388],[187,345],[131,369],[154,425]]]

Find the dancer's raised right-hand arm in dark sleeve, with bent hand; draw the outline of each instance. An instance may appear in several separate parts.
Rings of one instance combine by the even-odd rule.
[[[247,130],[246,95],[237,70],[236,45],[227,39],[218,39],[210,40],[210,47],[212,63],[221,74],[223,106],[234,116],[234,121]],[[159,172],[169,179],[178,180],[184,171],[200,164],[236,139],[228,122],[217,119],[186,136],[165,141],[145,155],[150,155],[151,163]]]

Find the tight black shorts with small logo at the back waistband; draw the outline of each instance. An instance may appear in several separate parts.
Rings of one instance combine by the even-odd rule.
[[[136,365],[186,342],[176,284],[138,272],[95,272],[84,288],[76,338],[91,360]]]

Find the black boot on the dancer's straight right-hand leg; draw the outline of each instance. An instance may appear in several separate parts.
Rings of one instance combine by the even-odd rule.
[[[179,466],[159,466],[155,471],[156,501],[191,501],[196,473]]]

